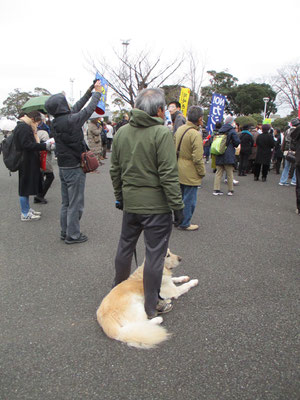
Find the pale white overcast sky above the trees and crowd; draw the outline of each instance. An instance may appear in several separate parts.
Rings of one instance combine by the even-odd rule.
[[[71,78],[77,99],[93,80],[84,54],[109,59],[124,39],[129,53],[149,49],[165,62],[192,49],[206,70],[239,83],[300,60],[299,0],[1,0],[0,16],[0,104],[15,88],[70,96]]]

